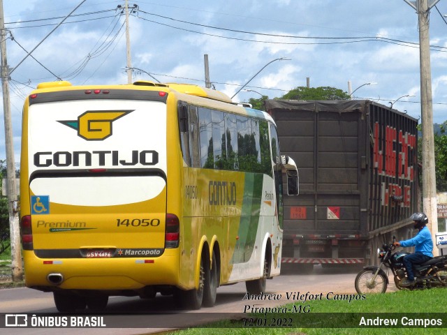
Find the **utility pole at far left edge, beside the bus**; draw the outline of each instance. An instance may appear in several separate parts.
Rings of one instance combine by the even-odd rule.
[[[6,180],[8,193],[9,236],[11,247],[11,265],[13,281],[23,280],[22,252],[20,249],[19,209],[15,188],[15,163],[13,126],[11,122],[9,100],[9,68],[6,61],[6,29],[3,15],[3,0],[0,0],[0,52],[1,52],[1,87],[3,90],[3,114],[5,119]]]

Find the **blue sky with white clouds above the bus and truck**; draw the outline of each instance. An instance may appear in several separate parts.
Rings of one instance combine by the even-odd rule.
[[[124,0],[87,0],[50,34],[80,3],[3,0],[16,165],[22,106],[39,82],[127,83],[124,14],[118,8]],[[129,18],[133,81],[205,86],[207,54],[213,87],[230,97],[255,76],[234,102],[279,98],[306,86],[309,78],[310,87],[346,92],[351,82],[353,98],[394,103],[395,109],[420,119],[418,16],[404,0],[138,0],[129,6],[134,8]],[[447,121],[443,15],[447,0],[430,11],[433,119],[438,124]],[[24,59],[35,47],[33,58]]]

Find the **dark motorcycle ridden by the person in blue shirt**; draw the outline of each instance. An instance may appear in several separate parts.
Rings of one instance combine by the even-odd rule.
[[[395,237],[393,237],[393,242]],[[447,287],[447,255],[437,256],[420,265],[414,265],[415,284],[409,287],[400,285],[406,277],[404,255],[402,251],[393,253],[396,246],[393,243],[383,244],[377,249],[381,264],[379,267],[364,267],[356,276],[356,291],[358,294],[385,293],[388,287],[388,269],[394,276],[394,283],[399,290]],[[386,269],[387,273],[383,270]]]

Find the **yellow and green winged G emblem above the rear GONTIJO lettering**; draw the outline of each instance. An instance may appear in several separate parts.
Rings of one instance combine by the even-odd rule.
[[[87,141],[101,141],[112,135],[112,123],[133,110],[88,110],[77,120],[58,121],[78,131],[78,136]]]

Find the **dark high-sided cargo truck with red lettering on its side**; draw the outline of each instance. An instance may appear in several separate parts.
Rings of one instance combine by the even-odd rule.
[[[384,241],[413,236],[417,119],[368,100],[268,100],[265,107],[300,173],[300,195],[284,195],[283,264],[376,264]]]

